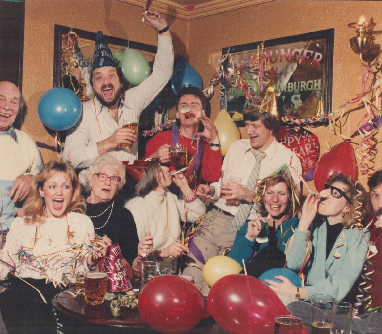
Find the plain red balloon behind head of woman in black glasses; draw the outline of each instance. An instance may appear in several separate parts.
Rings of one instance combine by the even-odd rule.
[[[356,156],[350,143],[343,141],[333,146],[317,162],[314,170],[314,186],[317,191],[324,189],[324,184],[334,172],[341,172],[350,176],[353,180],[358,180],[358,167],[356,164]]]

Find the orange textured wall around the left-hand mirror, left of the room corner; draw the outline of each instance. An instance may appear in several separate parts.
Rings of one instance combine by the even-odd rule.
[[[54,25],[86,31],[101,30],[105,35],[157,45],[157,34],[142,23],[142,9],[117,0],[27,0],[23,65],[23,97],[28,107],[22,130],[36,141],[54,145],[42,125],[37,106],[40,97],[53,83]],[[174,51],[186,56],[187,23],[167,17],[171,26]],[[44,162],[57,159],[57,154],[40,149]]]

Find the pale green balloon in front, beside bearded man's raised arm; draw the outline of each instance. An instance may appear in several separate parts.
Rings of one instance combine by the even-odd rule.
[[[126,49],[121,68],[123,76],[134,86],[139,85],[150,75],[149,62],[139,51],[131,48]]]

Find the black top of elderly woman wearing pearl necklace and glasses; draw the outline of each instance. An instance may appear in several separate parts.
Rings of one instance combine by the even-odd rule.
[[[107,235],[112,240],[112,243],[118,242],[120,244],[122,256],[131,266],[137,257],[138,251],[139,238],[137,228],[131,212],[118,202],[114,202],[114,204],[113,202],[111,200],[97,204],[86,203],[86,215],[92,220],[95,233],[100,236]],[[111,210],[112,213],[110,215]],[[94,217],[98,215],[100,216]],[[110,218],[107,224],[100,228],[105,224],[109,215]]]

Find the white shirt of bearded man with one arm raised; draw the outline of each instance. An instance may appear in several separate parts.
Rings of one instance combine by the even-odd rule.
[[[138,86],[128,89],[118,108],[118,123],[107,107],[95,97],[82,104],[82,115],[66,135],[64,159],[71,161],[74,168],[87,168],[98,157],[97,143],[109,138],[123,122],[139,123],[143,109],[162,91],[173,73],[174,52],[171,36],[158,35],[158,52],[155,56],[152,74]],[[135,160],[138,156],[138,140],[129,152],[122,149],[110,151],[120,161]],[[79,173],[84,183],[85,171]]]

